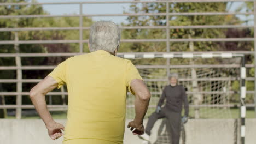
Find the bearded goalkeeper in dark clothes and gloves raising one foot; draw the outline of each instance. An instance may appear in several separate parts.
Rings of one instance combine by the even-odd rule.
[[[150,131],[153,128],[156,120],[165,117],[170,123],[170,128],[168,128],[168,131],[170,131],[171,143],[179,143],[181,122],[184,124],[188,121],[189,104],[185,89],[183,86],[177,85],[177,80],[178,74],[171,73],[169,76],[170,85],[165,86],[156,111],[148,118],[145,133],[139,136],[141,139],[149,141],[149,136],[151,134]],[[161,107],[165,99],[166,104],[164,107]],[[184,104],[185,109],[185,115],[183,117],[181,116],[182,104]]]

